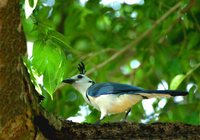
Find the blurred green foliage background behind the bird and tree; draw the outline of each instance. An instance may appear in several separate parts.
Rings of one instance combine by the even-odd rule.
[[[45,96],[41,105],[46,110],[78,122],[99,119],[100,113],[70,85],[60,87],[63,79],[78,73],[83,61],[96,82],[190,92],[186,97],[144,100],[132,107],[128,121],[200,124],[199,1],[26,2],[30,4],[21,1],[28,49],[24,62]],[[124,115],[103,121],[120,121]]]

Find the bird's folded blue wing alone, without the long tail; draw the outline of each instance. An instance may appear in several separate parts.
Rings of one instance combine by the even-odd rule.
[[[106,94],[137,94],[144,92],[142,88],[126,85],[126,84],[119,84],[119,83],[98,83],[94,84],[88,88],[87,94],[93,97],[97,97],[100,95]]]

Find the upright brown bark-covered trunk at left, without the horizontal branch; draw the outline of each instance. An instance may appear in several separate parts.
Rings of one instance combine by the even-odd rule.
[[[34,88],[22,59],[26,42],[19,0],[0,2],[0,139],[34,139]]]

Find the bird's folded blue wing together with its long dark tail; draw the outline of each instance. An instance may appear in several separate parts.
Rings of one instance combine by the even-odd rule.
[[[188,92],[179,90],[144,90],[140,87],[135,87],[131,85],[107,82],[92,85],[88,88],[87,94],[93,97],[108,94],[139,94],[144,99],[148,99],[154,96],[157,97],[158,94],[163,97],[165,95],[185,96],[188,94]]]

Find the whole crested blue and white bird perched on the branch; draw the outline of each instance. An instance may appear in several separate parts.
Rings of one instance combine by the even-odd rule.
[[[84,100],[101,112],[100,121],[107,115],[126,112],[126,120],[133,105],[143,99],[155,97],[185,96],[187,91],[179,90],[145,90],[141,87],[115,82],[95,83],[85,75],[85,65],[78,65],[79,74],[62,82],[71,84],[80,92]]]

